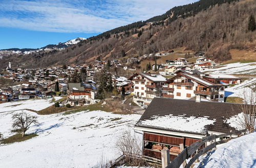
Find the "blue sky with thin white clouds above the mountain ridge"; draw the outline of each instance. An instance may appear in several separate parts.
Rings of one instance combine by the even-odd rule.
[[[146,20],[195,0],[0,0],[0,49],[40,48]]]

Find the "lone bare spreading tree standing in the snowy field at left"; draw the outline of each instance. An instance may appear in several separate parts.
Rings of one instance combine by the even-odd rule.
[[[22,129],[22,136],[24,137],[25,132],[29,129],[32,123],[37,124],[37,117],[28,115],[27,113],[18,113],[12,116],[13,124],[12,127]]]

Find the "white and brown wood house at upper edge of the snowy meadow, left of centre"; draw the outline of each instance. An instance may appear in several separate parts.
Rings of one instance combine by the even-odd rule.
[[[94,83],[69,83],[68,86],[67,103],[70,105],[81,106],[96,103],[97,88]]]

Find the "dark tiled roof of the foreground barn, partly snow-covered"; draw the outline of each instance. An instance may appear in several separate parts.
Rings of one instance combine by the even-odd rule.
[[[236,130],[229,121],[240,113],[235,103],[154,98],[135,127],[201,135],[227,133]]]

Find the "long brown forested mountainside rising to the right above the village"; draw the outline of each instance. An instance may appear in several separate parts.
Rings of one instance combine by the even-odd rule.
[[[255,11],[254,0],[201,0],[88,38],[62,51],[3,57],[0,66],[9,61],[27,67],[84,64],[96,58],[121,60],[177,47],[205,51],[216,61],[226,61],[231,59],[230,49],[254,49],[256,31],[248,30],[248,22],[251,15],[255,17]]]

